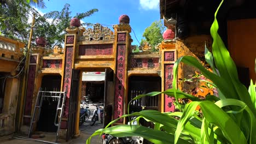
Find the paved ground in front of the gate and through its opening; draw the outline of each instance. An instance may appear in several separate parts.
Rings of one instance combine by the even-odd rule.
[[[94,133],[95,130],[97,129],[101,129],[103,127],[103,125],[96,121],[96,123],[93,126],[90,126],[90,121],[91,121],[91,117],[92,117],[92,113],[94,111],[94,109],[96,108],[95,106],[93,106],[92,104],[89,104],[89,110],[91,111],[91,116],[89,118],[88,121],[86,121],[83,125],[80,126],[80,136],[77,137],[76,139],[72,139],[69,140],[68,142],[66,142],[63,139],[59,139],[58,143],[65,143],[65,144],[80,144],[80,143],[85,143],[86,140],[91,136],[92,133]],[[44,141],[50,141],[50,142],[54,142],[55,141],[55,134],[56,133],[44,133],[45,137],[43,139],[38,139],[38,140],[44,140]],[[102,143],[102,139],[100,137],[100,139],[98,139],[98,136],[92,137],[91,143],[92,144],[101,144]],[[13,139],[12,135],[9,136],[2,136],[0,137],[0,143],[2,144],[39,144],[39,143],[43,143],[43,142],[36,142],[36,141],[28,141],[28,140],[20,140],[20,139]]]

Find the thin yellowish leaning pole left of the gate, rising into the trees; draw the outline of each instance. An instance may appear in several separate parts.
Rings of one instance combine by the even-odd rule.
[[[19,119],[18,119],[18,129],[20,130],[21,123],[22,123],[22,116],[24,113],[24,107],[25,107],[25,97],[26,97],[26,89],[27,89],[27,75],[28,75],[28,67],[30,62],[30,49],[31,49],[31,41],[32,41],[32,34],[33,34],[33,28],[34,28],[34,21],[35,21],[36,15],[33,13],[32,18],[32,25],[30,29],[30,38],[28,39],[28,45],[27,45],[27,52],[26,52],[26,62],[25,62],[25,69],[24,69],[24,76],[22,80],[22,92],[21,92],[21,99],[20,99],[20,111],[19,111]]]

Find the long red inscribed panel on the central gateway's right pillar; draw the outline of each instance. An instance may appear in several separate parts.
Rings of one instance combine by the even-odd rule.
[[[125,44],[118,45],[117,72],[115,75],[115,105],[114,119],[123,115],[124,112],[124,83],[125,83]],[[120,119],[118,122],[123,122]]]

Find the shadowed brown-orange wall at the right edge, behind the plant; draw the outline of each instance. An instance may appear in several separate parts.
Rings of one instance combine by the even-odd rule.
[[[255,81],[256,19],[228,21],[228,49],[238,67],[249,68],[250,78]]]

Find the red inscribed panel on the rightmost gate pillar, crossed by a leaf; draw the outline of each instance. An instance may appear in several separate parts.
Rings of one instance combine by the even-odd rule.
[[[172,88],[173,81],[173,64],[165,64],[165,90]],[[175,106],[173,104],[174,98],[165,94],[165,112],[174,111]]]

